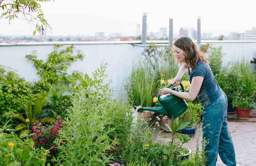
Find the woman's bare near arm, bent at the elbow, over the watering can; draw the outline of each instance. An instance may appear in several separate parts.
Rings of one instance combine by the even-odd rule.
[[[165,87],[164,89],[162,89],[161,95],[171,93],[179,98],[193,101],[198,95],[198,92],[201,88],[202,83],[203,83],[203,77],[195,76],[192,79],[189,92],[177,92]]]

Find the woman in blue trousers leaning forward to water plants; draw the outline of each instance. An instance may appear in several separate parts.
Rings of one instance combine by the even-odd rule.
[[[179,85],[188,71],[190,91],[164,88],[161,95],[171,93],[185,100],[194,100],[197,96],[203,106],[203,138],[209,141],[205,147],[206,166],[216,165],[218,153],[224,164],[235,166],[235,150],[228,131],[226,94],[216,82],[204,54],[189,37],[176,39],[172,49],[176,61],[182,64],[172,84]]]

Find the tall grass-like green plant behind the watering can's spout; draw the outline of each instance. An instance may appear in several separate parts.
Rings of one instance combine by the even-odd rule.
[[[148,68],[141,65],[132,68],[126,85],[128,99],[131,104],[150,107],[155,87],[154,75]]]

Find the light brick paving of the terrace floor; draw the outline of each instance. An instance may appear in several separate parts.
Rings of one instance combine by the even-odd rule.
[[[256,166],[256,122],[247,120],[229,120],[229,132],[231,134],[236,153],[237,166]],[[167,138],[161,138],[159,141],[167,142],[170,140],[171,133],[161,133],[167,135]],[[202,128],[197,129],[196,134],[191,141],[184,144],[183,147],[196,149],[196,141],[202,140]],[[217,166],[225,166],[218,155]]]

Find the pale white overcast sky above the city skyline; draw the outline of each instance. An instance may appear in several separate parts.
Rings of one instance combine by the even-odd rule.
[[[42,9],[52,27],[47,35],[93,36],[103,31],[106,36],[132,36],[136,24],[142,23],[141,13],[146,12],[148,32],[168,29],[170,18],[174,34],[181,27],[196,30],[196,19],[202,17],[201,32],[217,36],[256,27],[255,4],[252,0],[54,0],[42,3]],[[33,36],[33,30],[25,20],[16,19],[9,25],[7,19],[0,19],[1,35]]]

